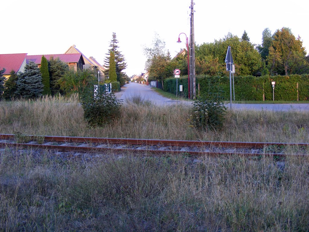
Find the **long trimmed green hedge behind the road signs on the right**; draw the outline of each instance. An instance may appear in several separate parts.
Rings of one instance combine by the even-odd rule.
[[[263,92],[265,100],[273,100],[273,88],[271,82],[275,81],[275,100],[296,101],[297,83],[299,101],[309,100],[309,75],[290,76],[234,76],[235,100],[262,101]],[[196,77],[196,93],[198,94],[200,84],[200,95],[218,93],[224,100],[230,99],[230,78],[227,76],[199,75]],[[183,85],[184,97],[188,97],[188,76],[178,79],[178,86]],[[179,87],[178,87],[179,88]],[[233,86],[232,86],[233,88]],[[176,78],[164,79],[165,91],[176,94]]]

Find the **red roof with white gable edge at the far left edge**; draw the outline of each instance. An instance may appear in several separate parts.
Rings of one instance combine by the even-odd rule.
[[[27,53],[0,54],[0,69],[5,68],[4,74],[10,74],[12,70],[18,72]]]

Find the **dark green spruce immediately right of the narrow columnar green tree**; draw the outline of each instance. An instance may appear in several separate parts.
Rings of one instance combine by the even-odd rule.
[[[53,95],[58,93],[63,94],[60,89],[58,80],[69,71],[69,66],[62,62],[59,58],[54,59],[53,57],[49,60],[49,86]]]

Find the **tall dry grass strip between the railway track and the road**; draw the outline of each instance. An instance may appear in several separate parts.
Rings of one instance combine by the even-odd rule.
[[[133,97],[120,120],[88,127],[78,96],[0,102],[0,133],[172,140],[309,142],[307,112],[228,111],[221,131],[190,126],[190,107],[156,106]]]

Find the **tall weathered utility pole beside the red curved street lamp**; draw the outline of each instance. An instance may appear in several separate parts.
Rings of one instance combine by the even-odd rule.
[[[193,19],[193,0],[191,0],[191,18],[190,18],[190,98],[196,98],[196,81],[195,81],[195,41],[194,41],[194,19]]]

